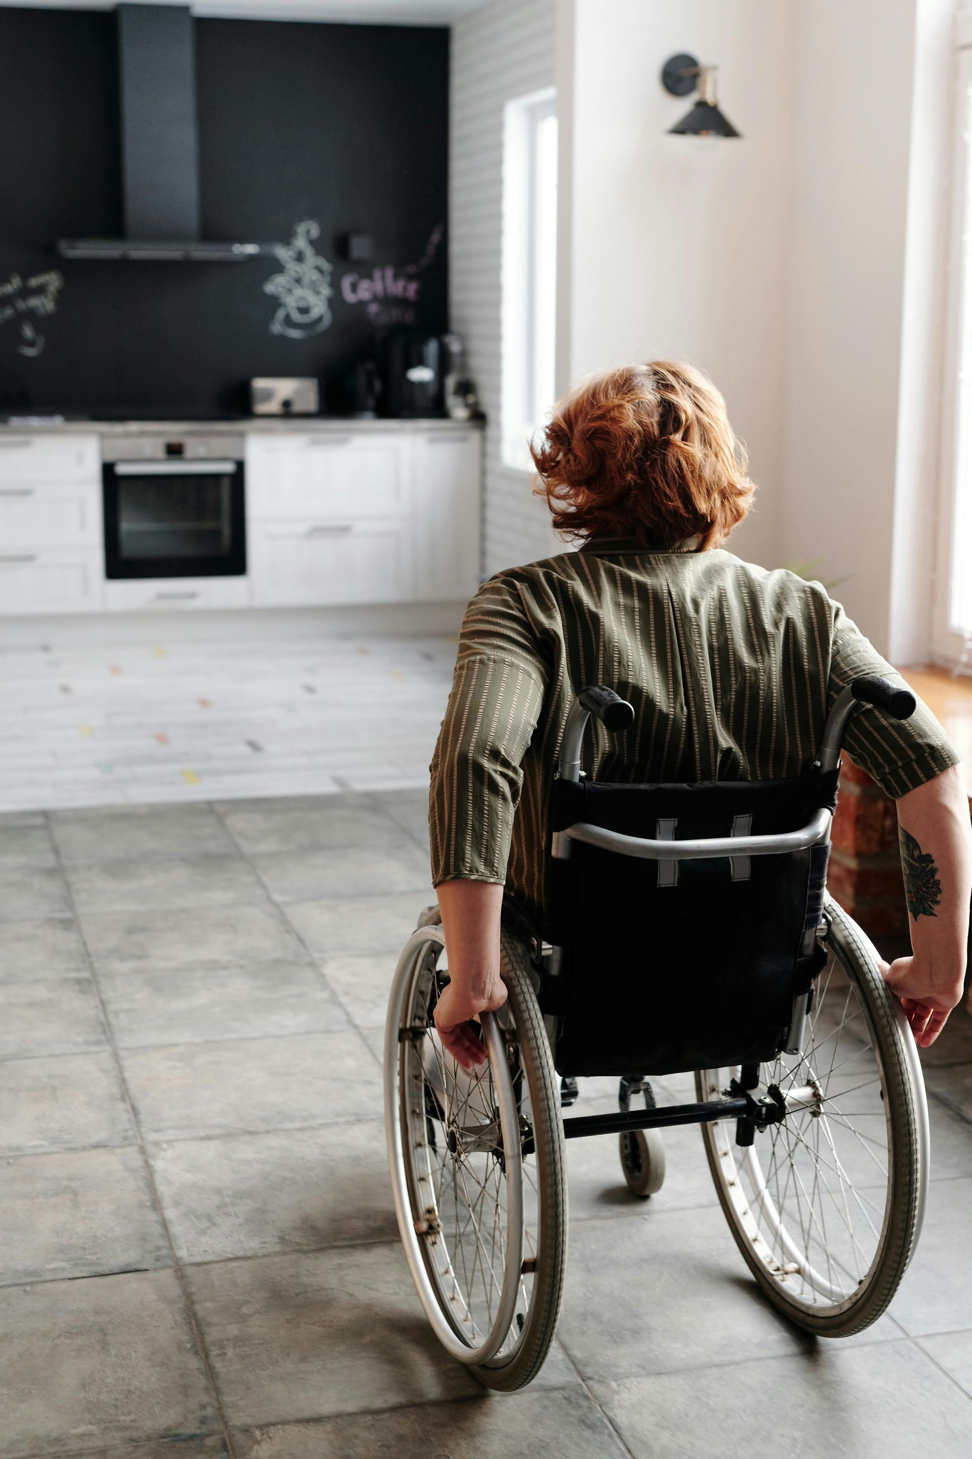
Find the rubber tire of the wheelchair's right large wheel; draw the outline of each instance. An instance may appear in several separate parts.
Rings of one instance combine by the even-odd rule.
[[[861,1011],[880,1062],[883,1097],[892,1129],[887,1170],[890,1198],[886,1202],[880,1246],[867,1277],[839,1307],[813,1312],[788,1299],[740,1228],[737,1212],[724,1186],[713,1125],[702,1125],[702,1138],[729,1227],[765,1296],[774,1307],[806,1332],[826,1338],[850,1338],[877,1322],[887,1309],[914,1253],[928,1179],[927,1107],[911,1033],[896,999],[885,985],[873,945],[834,900],[828,900],[828,916],[831,919],[828,941],[858,992]],[[699,1071],[695,1075],[699,1100],[710,1097],[708,1078],[710,1071]]]

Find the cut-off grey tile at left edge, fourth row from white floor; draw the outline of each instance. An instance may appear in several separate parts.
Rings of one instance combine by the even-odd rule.
[[[87,979],[0,985],[0,1059],[77,1053],[103,1043],[98,999]]]

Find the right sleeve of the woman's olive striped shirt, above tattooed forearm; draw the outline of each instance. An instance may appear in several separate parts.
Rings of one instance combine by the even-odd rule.
[[[832,607],[828,712],[841,690],[850,687],[860,674],[880,674],[906,689],[898,670],[882,658],[839,603]],[[911,719],[892,719],[873,705],[864,705],[851,715],[844,746],[854,763],[877,781],[892,800],[917,791],[920,785],[934,781],[943,770],[959,763],[955,746],[921,699]]]

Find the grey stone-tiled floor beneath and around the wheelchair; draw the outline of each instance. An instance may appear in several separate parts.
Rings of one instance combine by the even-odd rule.
[[[968,1459],[965,1014],[928,1059],[925,1233],[869,1332],[815,1342],[756,1296],[681,1128],[647,1204],[614,1139],[568,1145],[532,1389],[482,1395],[444,1355],[396,1239],[377,1055],[428,900],[423,802],[0,817],[0,1459]]]

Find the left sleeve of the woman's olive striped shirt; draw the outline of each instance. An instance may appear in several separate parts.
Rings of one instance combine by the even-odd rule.
[[[491,578],[462,623],[456,670],[431,762],[433,884],[504,881],[520,762],[536,728],[548,668],[516,581]]]

